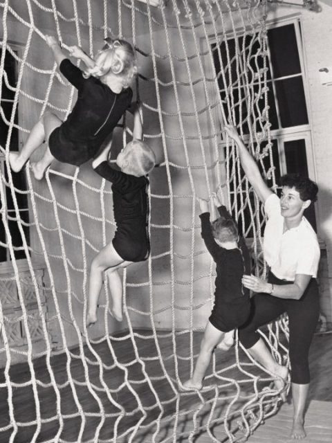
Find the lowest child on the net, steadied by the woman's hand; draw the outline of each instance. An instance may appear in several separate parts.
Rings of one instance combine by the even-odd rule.
[[[243,273],[250,275],[249,251],[244,239],[238,235],[237,224],[215,193],[213,200],[220,217],[211,224],[208,202],[198,199],[201,235],[216,263],[214,307],[205,327],[192,378],[183,383],[185,389],[202,388],[214,348],[230,349],[234,343],[234,329],[243,325],[250,313],[249,291],[241,284]]]

